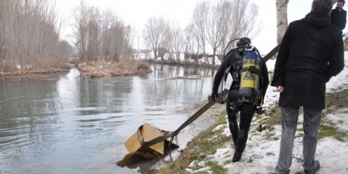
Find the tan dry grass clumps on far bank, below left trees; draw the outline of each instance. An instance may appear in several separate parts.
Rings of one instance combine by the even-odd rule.
[[[0,63],[0,78],[15,75],[29,75],[34,73],[55,73],[67,71],[68,62],[76,64],[78,59],[67,59],[64,57],[42,57],[41,59],[27,59],[25,68],[17,68],[18,63]],[[133,60],[128,56],[121,57],[120,62],[106,62],[104,59],[94,61],[91,64],[81,63],[77,65],[79,71],[91,78],[104,76],[145,75],[152,70],[148,62]]]

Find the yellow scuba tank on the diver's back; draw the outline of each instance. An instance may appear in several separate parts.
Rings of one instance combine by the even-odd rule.
[[[240,70],[239,103],[258,105],[260,100],[260,57],[256,52],[248,52],[243,57]]]

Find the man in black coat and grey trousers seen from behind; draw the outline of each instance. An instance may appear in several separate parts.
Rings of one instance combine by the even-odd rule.
[[[271,85],[280,92],[281,141],[275,173],[290,173],[293,139],[303,107],[303,168],[319,171],[315,161],[326,82],[344,68],[342,31],[330,22],[331,0],[314,0],[312,11],[291,22],[281,41]]]

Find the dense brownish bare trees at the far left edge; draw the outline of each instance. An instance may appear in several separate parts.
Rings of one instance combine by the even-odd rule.
[[[0,59],[8,65],[34,68],[57,56],[59,28],[55,3],[50,0],[0,1]],[[18,66],[19,65],[19,66]]]

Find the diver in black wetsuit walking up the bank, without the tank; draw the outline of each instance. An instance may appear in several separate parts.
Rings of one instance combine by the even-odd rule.
[[[235,145],[235,154],[233,155],[232,162],[237,162],[241,159],[242,153],[246,145],[246,140],[248,140],[248,133],[251,124],[251,119],[256,112],[256,107],[254,104],[240,103],[239,99],[239,87],[240,87],[240,69],[242,68],[243,57],[246,56],[251,49],[251,41],[249,38],[240,38],[237,42],[237,49],[231,50],[224,57],[221,62],[218,71],[214,77],[214,85],[211,93],[211,99],[216,101],[218,96],[218,87],[223,79],[226,68],[230,66],[230,73],[232,75],[232,84],[230,86],[230,91],[228,93],[228,100],[226,102],[226,111],[228,114],[228,123],[230,126],[230,132],[232,133],[232,140]],[[240,48],[240,49],[238,49]],[[242,50],[242,51],[241,51]],[[263,80],[259,81],[260,91],[263,97],[267,90],[269,84],[268,71],[265,61],[260,57],[260,78]],[[227,74],[228,75],[228,74]],[[237,116],[240,113],[239,127],[237,122]]]

